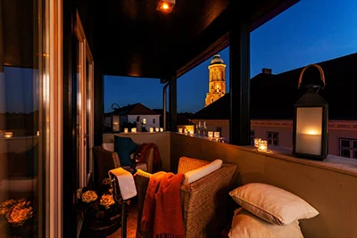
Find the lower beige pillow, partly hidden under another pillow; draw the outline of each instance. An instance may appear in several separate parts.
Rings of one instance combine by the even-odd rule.
[[[228,237],[231,238],[303,238],[299,221],[287,226],[270,224],[245,209],[237,209]]]

